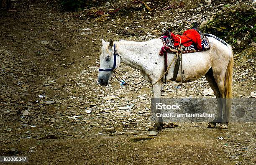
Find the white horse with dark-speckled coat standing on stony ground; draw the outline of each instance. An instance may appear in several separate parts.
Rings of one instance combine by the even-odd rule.
[[[190,82],[205,75],[205,78],[214,91],[218,101],[218,108],[215,119],[208,127],[216,127],[220,123],[220,128],[228,128],[229,116],[231,112],[232,97],[232,72],[233,53],[231,47],[221,41],[216,36],[209,37],[210,49],[196,53],[183,54],[183,82]],[[102,39],[100,50],[100,69],[98,82],[101,86],[107,86],[113,69],[117,69],[120,63],[125,63],[132,68],[141,71],[142,76],[150,83],[154,84],[151,89],[154,98],[161,96],[161,81],[159,78],[164,74],[164,56],[159,56],[159,51],[163,43],[161,39],[152,39],[146,42],[117,41],[105,42]],[[174,58],[174,54],[168,53],[168,65]],[[172,81],[175,63],[172,63],[166,82]],[[181,67],[176,81],[181,82]],[[163,77],[165,81],[165,76]],[[156,82],[158,81],[158,82]],[[156,84],[155,84],[156,83]],[[223,118],[222,118],[223,113]],[[154,128],[149,135],[157,135],[162,128],[162,118],[155,116]]]

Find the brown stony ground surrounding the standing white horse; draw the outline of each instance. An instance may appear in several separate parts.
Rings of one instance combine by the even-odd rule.
[[[184,0],[177,1],[184,8],[170,10],[161,9],[174,1],[154,1],[150,12],[131,4],[106,17],[88,16],[126,1],[100,2],[65,13],[51,1],[17,0],[1,12],[0,155],[27,155],[31,164],[255,164],[255,122],[231,122],[227,130],[169,123],[149,138],[148,83],[142,89],[120,86],[114,78],[107,87],[97,84],[100,38],[145,41],[167,27],[182,33],[223,10],[252,8],[251,0]],[[255,97],[255,49],[251,41],[234,52],[234,97]],[[142,80],[128,66],[118,71],[129,82]],[[187,93],[178,89],[176,95],[177,85],[164,84],[162,96],[212,97],[204,96],[210,88],[204,77],[185,84]]]

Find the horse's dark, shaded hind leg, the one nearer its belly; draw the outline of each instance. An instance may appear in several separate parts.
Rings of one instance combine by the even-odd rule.
[[[222,115],[222,108],[223,108],[223,103],[220,99],[220,90],[218,88],[218,85],[214,79],[214,76],[212,74],[212,68],[205,74],[205,78],[208,81],[210,87],[212,88],[212,90],[214,91],[214,94],[217,98],[217,102],[218,102],[218,107],[217,107],[217,113],[215,116],[215,119],[212,120],[212,122],[210,122],[208,124],[208,128],[212,128],[212,127],[216,127],[216,123],[220,123],[222,121],[221,119],[221,115]]]

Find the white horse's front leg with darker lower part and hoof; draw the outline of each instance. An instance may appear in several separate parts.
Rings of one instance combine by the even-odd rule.
[[[153,97],[156,102],[160,102],[160,97],[161,97],[161,81],[157,82],[156,84],[153,85]],[[162,129],[163,127],[163,119],[160,117],[161,110],[155,109],[154,115],[155,115],[155,124],[154,128],[149,132],[149,136],[156,136],[158,132]]]

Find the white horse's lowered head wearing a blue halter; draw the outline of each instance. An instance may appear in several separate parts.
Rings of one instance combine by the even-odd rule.
[[[110,42],[105,42],[103,39],[101,39],[101,42],[102,47],[100,50],[98,82],[101,86],[107,86],[108,80],[112,76],[114,69],[117,69],[120,65],[120,56],[114,50],[116,49],[116,46],[114,45],[112,39],[110,39]]]

